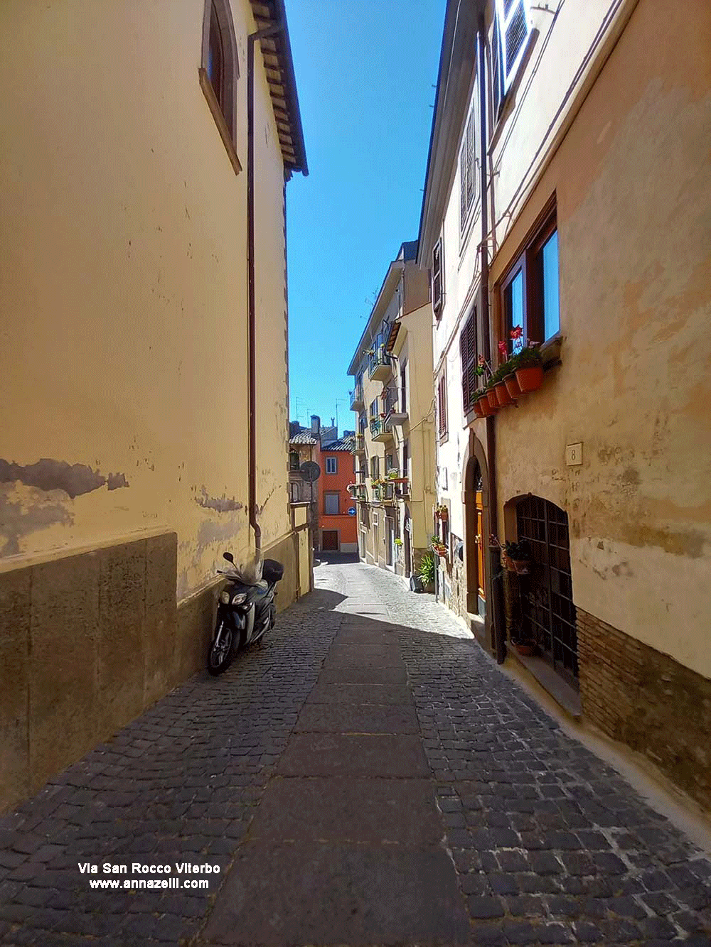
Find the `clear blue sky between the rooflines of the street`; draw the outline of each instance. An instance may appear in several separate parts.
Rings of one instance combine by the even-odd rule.
[[[286,11],[309,164],[286,188],[290,417],[330,423],[338,406],[353,429],[348,365],[390,261],[417,239],[445,0]]]

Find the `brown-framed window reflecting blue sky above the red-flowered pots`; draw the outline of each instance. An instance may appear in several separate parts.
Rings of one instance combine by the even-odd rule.
[[[531,342],[546,342],[560,331],[555,210],[501,280],[501,315],[504,338],[513,354]],[[520,329],[520,337],[510,342],[515,329]]]

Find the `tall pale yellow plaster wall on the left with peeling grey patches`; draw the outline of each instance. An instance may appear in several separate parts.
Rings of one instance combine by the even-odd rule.
[[[8,0],[0,569],[178,533],[179,598],[247,527],[246,34],[235,175],[198,82],[203,0]],[[256,56],[258,502],[289,530],[283,166]],[[48,458],[48,459],[47,459]],[[17,475],[15,475],[17,474]]]

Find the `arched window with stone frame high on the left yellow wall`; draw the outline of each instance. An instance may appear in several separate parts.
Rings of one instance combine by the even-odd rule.
[[[205,0],[200,85],[235,174],[237,157],[237,80],[240,69],[229,0]]]

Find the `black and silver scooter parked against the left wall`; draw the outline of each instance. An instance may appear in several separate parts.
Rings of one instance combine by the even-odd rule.
[[[220,593],[217,605],[217,620],[212,635],[208,670],[210,674],[221,674],[229,667],[234,652],[248,644],[261,641],[264,634],[274,627],[277,619],[276,586],[283,577],[283,565],[274,559],[265,559],[262,568],[240,571],[234,564],[231,552],[223,557],[232,563],[224,571],[228,585]],[[249,574],[251,571],[251,574]]]

